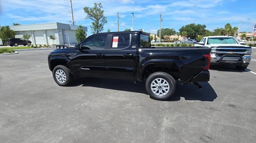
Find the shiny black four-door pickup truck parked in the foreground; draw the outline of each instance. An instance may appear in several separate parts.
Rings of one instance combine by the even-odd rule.
[[[151,98],[166,100],[180,84],[210,78],[208,47],[151,47],[149,33],[124,31],[98,33],[74,48],[49,53],[48,64],[55,82],[68,86],[74,76],[96,76],[145,82]],[[129,88],[129,87],[127,87]]]

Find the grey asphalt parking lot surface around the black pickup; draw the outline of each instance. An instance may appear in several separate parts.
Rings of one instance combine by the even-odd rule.
[[[247,70],[211,67],[202,90],[177,84],[170,101],[153,100],[143,83],[126,80],[58,86],[50,51],[0,56],[0,142],[256,142],[256,49]]]

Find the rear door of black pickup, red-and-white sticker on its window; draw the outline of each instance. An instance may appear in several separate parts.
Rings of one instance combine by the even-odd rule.
[[[106,76],[134,78],[137,35],[111,34],[111,44],[106,52]]]

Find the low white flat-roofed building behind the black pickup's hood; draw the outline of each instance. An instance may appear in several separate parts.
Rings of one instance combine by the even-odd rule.
[[[57,45],[57,44],[76,44],[75,32],[78,25],[49,23],[31,25],[13,25],[10,29],[15,31],[15,38],[22,38],[23,35],[31,35],[30,41],[34,45]],[[87,27],[82,27],[87,31]],[[56,37],[53,41],[50,35]]]

